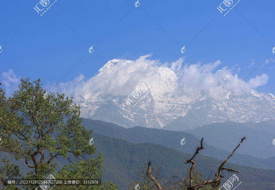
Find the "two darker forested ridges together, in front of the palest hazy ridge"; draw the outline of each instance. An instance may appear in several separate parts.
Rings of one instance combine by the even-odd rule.
[[[272,123],[272,121],[268,122]],[[171,175],[171,173],[176,174],[178,171],[180,172],[179,176],[182,176],[182,174],[185,175],[186,169],[190,167],[191,164],[184,164],[184,162],[190,159],[196,148],[200,146],[200,139],[193,136],[193,134],[189,135],[181,131],[149,129],[140,126],[126,129],[113,123],[92,119],[83,119],[82,124],[85,124],[86,130],[93,130],[93,146],[96,148],[94,155],[85,155],[85,158],[92,159],[102,152],[104,159],[103,170],[105,171],[102,181],[110,180],[116,185],[119,185],[120,190],[129,189],[128,184],[134,180],[134,178],[138,183],[137,178],[140,177],[136,176],[137,167],[146,167],[149,160],[151,160],[155,169],[162,163],[163,167],[161,168],[160,178],[168,174]],[[222,124],[216,123],[206,127],[219,127],[222,129],[226,127],[227,124],[233,126],[231,122],[226,122]],[[242,125],[239,126],[240,131],[242,131]],[[251,126],[253,127],[253,125]],[[201,129],[204,129],[204,127],[205,126]],[[268,125],[266,125],[266,127],[267,130]],[[56,135],[56,133],[54,134]],[[55,137],[55,135],[53,137]],[[231,136],[231,134],[229,133],[228,136]],[[180,141],[184,137],[186,143],[181,145]],[[240,139],[239,137],[236,137],[236,139],[233,138],[230,143],[225,139],[226,143],[233,147],[230,151],[208,145],[206,141],[211,142],[209,139],[212,139],[212,137],[205,134],[203,141],[204,149],[199,152],[195,161],[197,164],[196,167],[202,171],[204,178],[207,178],[211,174],[209,179],[213,179],[222,161],[229,156],[233,148],[236,148]],[[250,143],[249,139],[250,137],[248,135],[247,139],[245,139],[237,149],[237,152],[226,162],[225,167],[240,171],[240,173],[235,174],[240,181],[242,181],[240,186],[242,190],[272,190],[274,189],[273,183],[275,183],[275,157],[257,159],[251,155],[238,153],[238,150],[239,152],[244,152],[249,148],[249,146],[247,146],[247,144]],[[87,139],[87,144],[88,141]],[[222,140],[217,141],[219,143],[223,142]],[[270,147],[267,151],[271,151],[272,148],[273,147]],[[18,165],[20,171],[24,174],[33,170],[30,169],[23,160],[17,161],[8,153],[1,153],[0,157],[2,158],[4,156],[7,156],[7,159],[11,159],[11,163]],[[68,157],[73,159],[71,154],[68,154]],[[56,170],[60,170],[65,164],[69,164],[68,160],[62,157],[57,157],[53,160],[53,163],[57,163]],[[233,174],[223,170],[222,175],[224,176],[224,178],[222,178],[223,184]]]

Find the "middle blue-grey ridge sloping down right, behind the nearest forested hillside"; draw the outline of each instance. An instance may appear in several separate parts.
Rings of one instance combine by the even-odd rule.
[[[154,143],[161,144],[168,148],[173,148],[181,152],[187,152],[193,154],[196,151],[197,144],[200,144],[200,139],[194,137],[192,134],[180,132],[180,131],[167,131],[161,129],[149,129],[145,127],[136,126],[133,128],[123,128],[113,123],[107,123],[100,120],[92,120],[92,119],[82,119],[82,123],[85,124],[87,130],[93,129],[94,133],[100,133],[102,135],[108,137],[116,137],[119,139],[123,139],[132,143]],[[180,141],[185,137],[185,145],[181,145]],[[241,137],[243,138],[243,137]],[[94,141],[96,141],[97,137],[94,136]],[[205,142],[205,139],[212,139],[210,137],[204,136],[204,147],[205,149],[200,153],[203,155],[211,156],[216,159],[223,159],[224,157],[228,157],[231,152],[236,148],[240,139],[232,141],[232,144],[235,144],[235,147],[232,150],[225,151],[213,146],[208,145]],[[247,139],[246,139],[247,140]],[[245,141],[246,141],[245,140]],[[247,144],[247,142],[243,142]],[[273,147],[271,147],[273,148]],[[242,154],[244,148],[238,148],[237,152],[233,157],[230,158],[230,163],[236,163],[240,165],[263,168],[263,169],[275,169],[275,157],[269,159],[261,159],[258,157],[253,157],[251,155]],[[258,159],[257,159],[258,158]],[[256,160],[256,161],[255,161]]]

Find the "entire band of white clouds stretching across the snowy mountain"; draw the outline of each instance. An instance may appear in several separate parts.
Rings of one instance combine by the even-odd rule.
[[[60,82],[56,90],[74,97],[79,95],[89,96],[94,93],[128,96],[141,82],[148,85],[159,85],[163,80],[171,82],[175,79],[176,74],[175,80],[178,88],[173,89],[175,95],[190,95],[199,93],[202,89],[210,97],[223,100],[226,94],[237,86],[238,88],[234,90],[234,94],[243,95],[250,93],[252,89],[262,86],[268,81],[268,75],[266,74],[256,76],[250,79],[249,82],[243,81],[237,74],[233,73],[233,70],[237,69],[234,69],[237,65],[232,68],[223,67],[222,70],[215,71],[215,68],[222,64],[220,60],[204,65],[199,63],[202,67],[198,64],[185,64],[182,66],[184,58],[172,62],[167,66],[168,70],[165,69],[161,72],[160,75],[167,78],[156,77],[154,79],[160,73],[160,67],[165,67],[168,63],[161,64],[158,60],[149,60],[151,55],[141,56],[135,61],[120,61],[111,66],[113,71],[105,68],[100,75],[95,75],[90,79],[85,79],[84,75],[79,74],[73,81]],[[239,71],[240,67],[237,72]],[[163,72],[166,72],[166,75],[163,75]],[[53,86],[48,84],[49,88]]]

